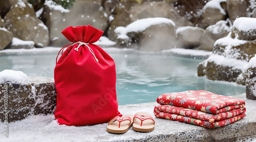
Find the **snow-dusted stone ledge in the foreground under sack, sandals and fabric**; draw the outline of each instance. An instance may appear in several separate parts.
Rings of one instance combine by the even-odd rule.
[[[159,94],[160,95],[160,94]],[[54,115],[30,116],[25,120],[8,124],[9,141],[245,141],[256,138],[255,101],[245,99],[245,94],[233,96],[245,100],[246,117],[220,128],[204,128],[192,124],[156,118],[156,102],[119,105],[122,115],[134,115],[142,111],[150,113],[155,119],[155,129],[151,132],[136,132],[130,128],[124,134],[112,134],[106,131],[108,123],[90,126],[58,125]],[[0,123],[0,128],[5,128]],[[0,141],[6,137],[0,136]],[[249,141],[249,140],[247,140]]]

